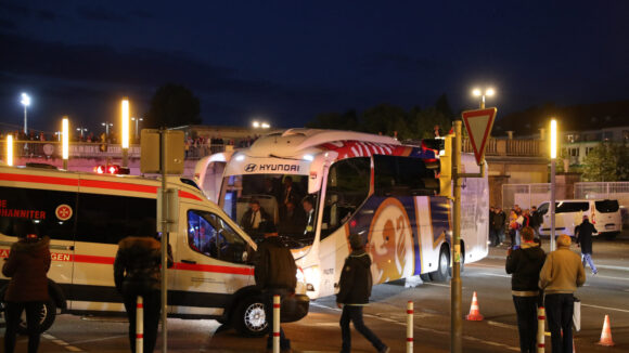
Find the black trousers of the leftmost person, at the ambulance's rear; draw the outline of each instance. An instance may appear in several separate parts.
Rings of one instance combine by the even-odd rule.
[[[17,326],[20,316],[26,311],[26,329],[28,330],[28,353],[37,353],[39,348],[39,316],[43,302],[7,302],[7,330],[4,331],[4,352],[13,353],[15,350],[15,339],[17,336]]]

